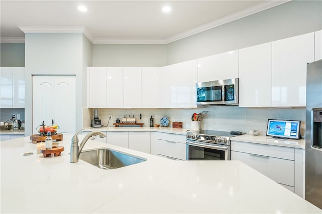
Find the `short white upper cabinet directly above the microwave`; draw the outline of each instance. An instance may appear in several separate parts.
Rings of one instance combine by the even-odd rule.
[[[198,59],[198,83],[230,78],[238,78],[238,50]]]

